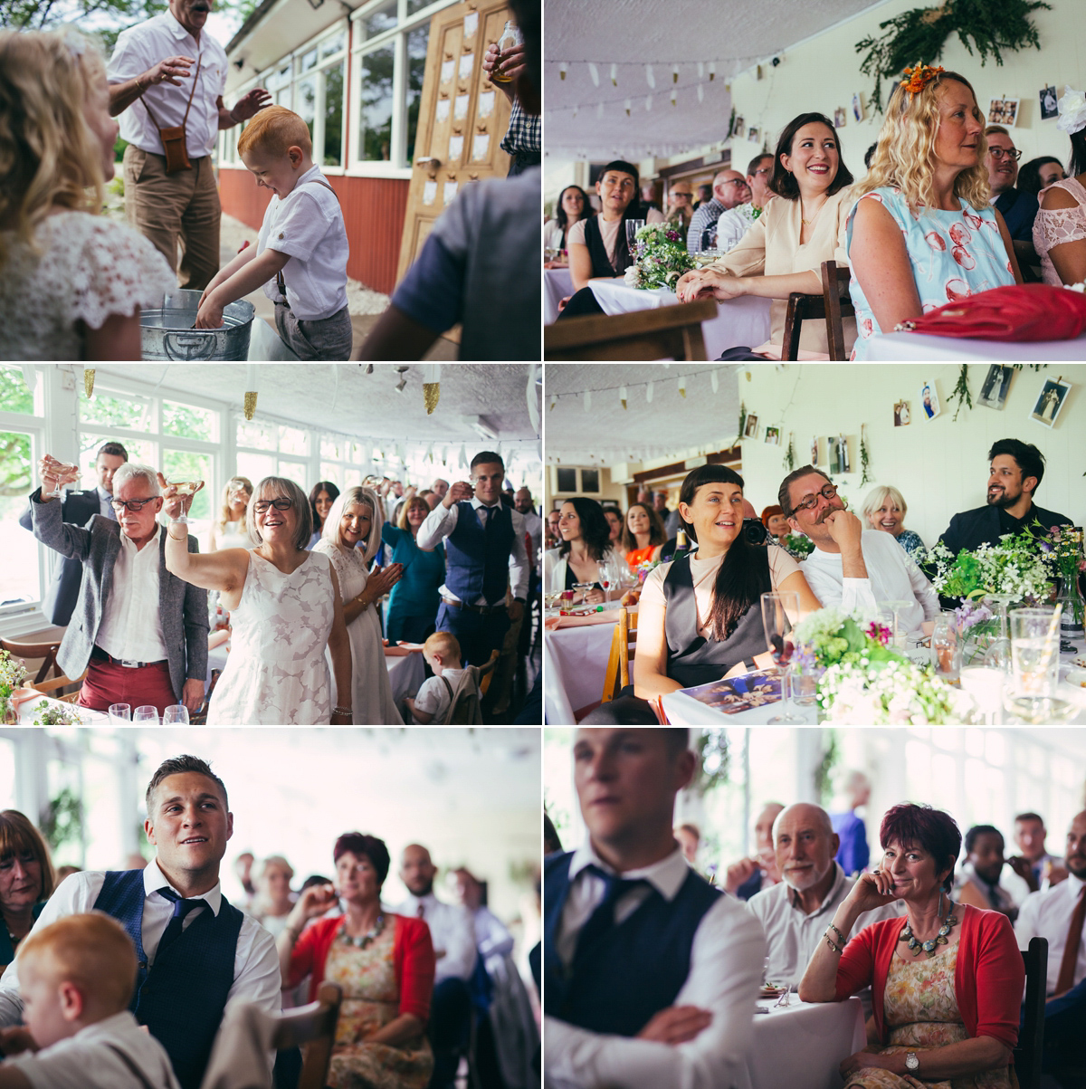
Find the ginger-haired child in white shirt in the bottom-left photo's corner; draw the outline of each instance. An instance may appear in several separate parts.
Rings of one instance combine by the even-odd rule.
[[[70,915],[18,951],[25,1028],[0,1030],[0,1089],[180,1089],[165,1049],[128,1013],[136,951],[108,915]]]

